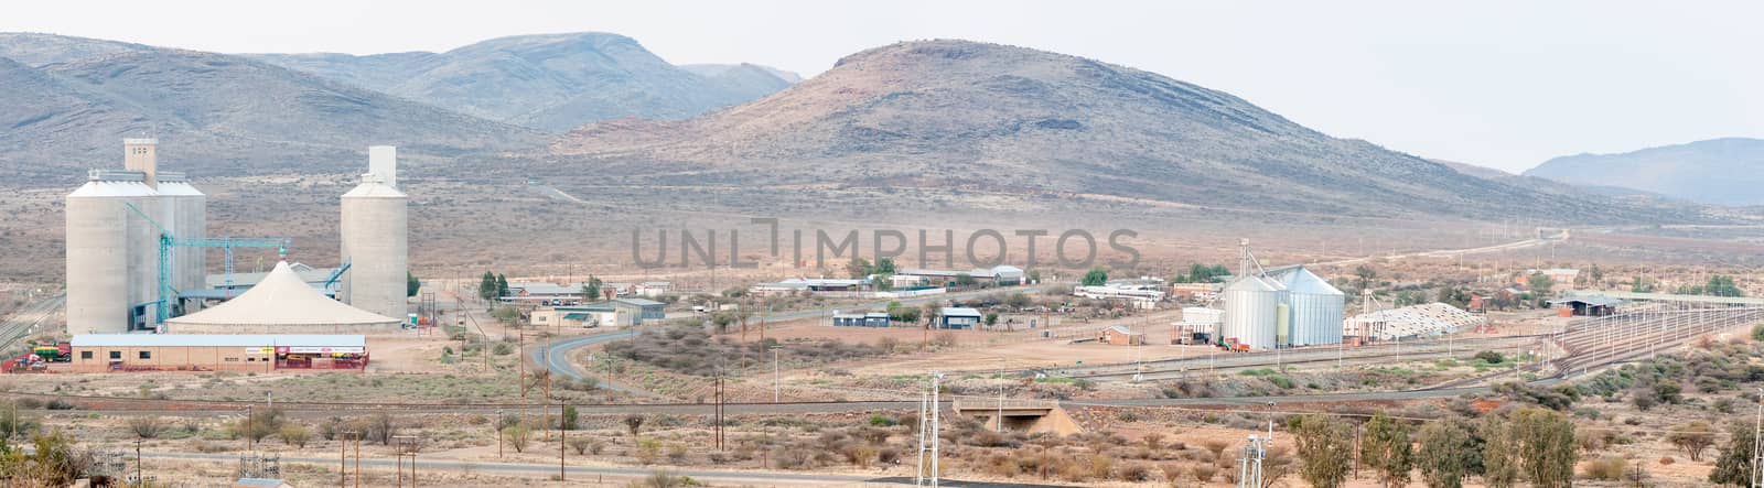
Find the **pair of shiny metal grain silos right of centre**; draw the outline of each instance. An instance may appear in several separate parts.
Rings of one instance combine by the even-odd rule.
[[[1346,298],[1304,266],[1263,270],[1242,243],[1238,275],[1224,287],[1219,338],[1233,349],[1341,344]]]

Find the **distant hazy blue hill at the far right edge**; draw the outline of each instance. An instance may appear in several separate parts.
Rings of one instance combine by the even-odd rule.
[[[1653,192],[1729,206],[1764,204],[1764,139],[1709,139],[1614,155],[1570,155],[1526,171],[1572,185]]]

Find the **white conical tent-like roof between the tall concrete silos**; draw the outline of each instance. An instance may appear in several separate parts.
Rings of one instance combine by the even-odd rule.
[[[258,285],[208,310],[166,321],[171,326],[390,326],[399,319],[355,308],[312,289],[288,261]]]

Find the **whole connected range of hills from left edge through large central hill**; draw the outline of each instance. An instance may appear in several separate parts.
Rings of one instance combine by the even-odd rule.
[[[968,41],[866,49],[797,83],[751,63],[670,65],[610,33],[369,56],[0,33],[0,169],[21,181],[111,167],[118,137],[152,132],[176,169],[210,176],[335,174],[362,146],[399,144],[439,178],[614,181],[672,201],[838,187],[1357,217],[1704,215],[1466,174],[1161,74]]]

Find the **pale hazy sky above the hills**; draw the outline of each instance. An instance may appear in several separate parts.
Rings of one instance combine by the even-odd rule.
[[[1501,169],[1764,137],[1760,2],[7,4],[0,30],[222,53],[445,51],[598,30],[674,63],[803,76],[894,41],[990,41],[1154,70],[1334,136]]]

